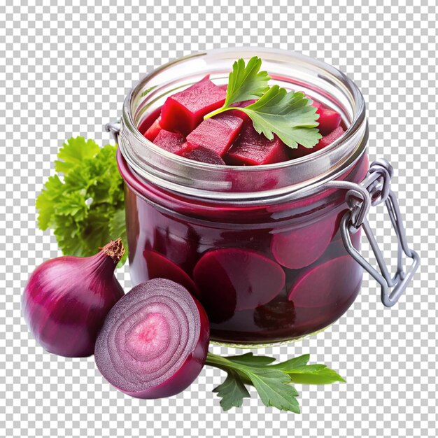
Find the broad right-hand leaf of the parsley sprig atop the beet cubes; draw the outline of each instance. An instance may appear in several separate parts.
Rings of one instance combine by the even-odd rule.
[[[269,140],[276,134],[290,148],[297,148],[299,144],[312,148],[322,138],[316,129],[319,117],[316,108],[302,92],[287,92],[274,85],[253,104],[229,109],[243,111],[259,134],[263,133]]]

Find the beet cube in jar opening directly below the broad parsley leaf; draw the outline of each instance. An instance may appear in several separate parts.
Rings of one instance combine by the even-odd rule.
[[[228,151],[226,161],[229,164],[249,166],[278,163],[289,160],[288,149],[277,136],[268,140],[248,123],[243,127],[239,141]]]

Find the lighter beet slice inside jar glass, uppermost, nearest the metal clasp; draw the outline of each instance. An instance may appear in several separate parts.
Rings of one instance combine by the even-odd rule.
[[[328,217],[302,228],[274,234],[271,251],[275,260],[290,269],[312,264],[323,255],[334,233],[335,218]]]

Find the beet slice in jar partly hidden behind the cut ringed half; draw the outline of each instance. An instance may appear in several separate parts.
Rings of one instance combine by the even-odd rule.
[[[143,256],[146,260],[145,281],[153,278],[168,278],[198,295],[199,292],[192,278],[185,274],[183,269],[171,262],[164,255],[157,253],[152,249],[143,250]]]

